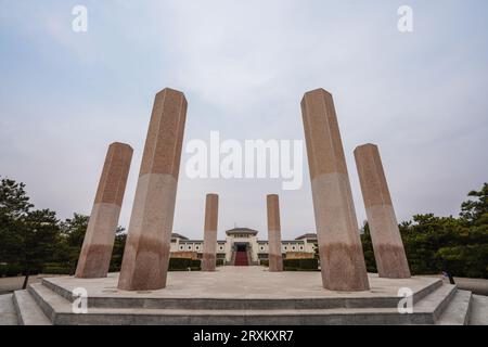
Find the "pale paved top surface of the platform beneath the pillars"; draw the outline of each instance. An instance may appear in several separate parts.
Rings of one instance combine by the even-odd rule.
[[[157,297],[157,298],[326,298],[326,297],[397,297],[398,290],[413,292],[438,281],[434,278],[403,280],[380,279],[370,274],[371,290],[364,292],[334,292],[324,290],[319,271],[270,272],[264,267],[220,267],[215,272],[168,272],[164,290],[128,292],[117,290],[118,274],[105,279],[56,278],[51,283],[73,291],[85,287],[89,296],[97,297]]]

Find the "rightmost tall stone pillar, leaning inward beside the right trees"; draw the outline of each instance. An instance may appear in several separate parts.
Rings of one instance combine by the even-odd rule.
[[[364,144],[355,150],[355,157],[380,277],[408,279],[409,264],[380,151],[374,144]]]

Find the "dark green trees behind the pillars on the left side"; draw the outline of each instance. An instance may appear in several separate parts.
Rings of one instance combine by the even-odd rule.
[[[24,183],[0,181],[0,277],[40,272],[74,274],[89,217],[74,214],[61,220],[50,209],[35,209]],[[121,265],[126,234],[118,227],[111,270]]]

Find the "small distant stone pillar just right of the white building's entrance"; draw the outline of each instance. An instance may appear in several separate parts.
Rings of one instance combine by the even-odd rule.
[[[281,223],[280,201],[278,195],[267,196],[268,206],[268,255],[269,271],[283,271],[283,256],[281,254]]]

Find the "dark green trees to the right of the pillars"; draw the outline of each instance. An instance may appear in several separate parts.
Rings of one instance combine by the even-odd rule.
[[[488,279],[488,184],[468,193],[459,217],[416,215],[399,224],[412,274]],[[361,235],[368,271],[375,272],[368,223]]]

